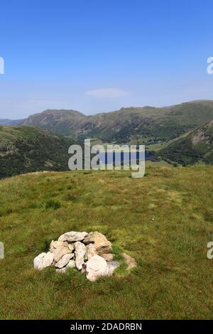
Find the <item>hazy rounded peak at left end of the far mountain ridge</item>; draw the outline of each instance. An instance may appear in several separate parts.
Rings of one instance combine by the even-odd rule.
[[[45,110],[40,114],[34,114],[25,119],[22,125],[40,126],[44,129],[63,134],[65,136],[75,134],[77,128],[87,117],[75,110]]]

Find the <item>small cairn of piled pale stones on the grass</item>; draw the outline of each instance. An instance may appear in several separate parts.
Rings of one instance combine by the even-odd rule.
[[[99,232],[67,232],[50,243],[50,251],[34,259],[34,268],[42,270],[55,266],[59,273],[76,268],[85,273],[89,281],[111,276],[119,262],[114,262],[111,242]]]

